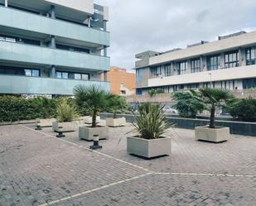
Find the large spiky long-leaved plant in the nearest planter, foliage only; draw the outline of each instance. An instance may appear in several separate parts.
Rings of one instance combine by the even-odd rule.
[[[132,132],[138,133],[138,137],[143,139],[157,139],[162,138],[167,132],[167,129],[172,127],[172,123],[165,122],[165,115],[163,113],[164,106],[153,105],[147,103],[147,106],[139,109],[139,115],[135,115],[135,127]]]

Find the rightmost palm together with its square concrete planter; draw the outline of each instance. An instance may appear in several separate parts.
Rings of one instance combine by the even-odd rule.
[[[197,99],[205,103],[205,109],[210,111],[210,125],[196,127],[196,140],[221,142],[230,138],[229,127],[215,126],[216,108],[224,108],[227,103],[234,100],[234,96],[225,89],[201,88],[199,93],[191,91]]]

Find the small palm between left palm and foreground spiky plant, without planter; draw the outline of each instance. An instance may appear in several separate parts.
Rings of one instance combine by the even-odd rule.
[[[123,112],[123,110],[128,108],[125,98],[118,96],[116,94],[109,95],[109,103],[107,110],[110,113],[114,113],[114,118],[117,117],[118,111]]]

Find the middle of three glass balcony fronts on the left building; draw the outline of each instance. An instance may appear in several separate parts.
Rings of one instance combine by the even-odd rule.
[[[109,70],[110,65],[109,57],[6,41],[0,41],[0,60],[94,70]]]

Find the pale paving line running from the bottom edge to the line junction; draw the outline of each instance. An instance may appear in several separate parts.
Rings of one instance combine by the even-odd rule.
[[[100,189],[106,189],[106,188],[109,188],[109,187],[117,185],[117,184],[123,184],[123,183],[128,182],[128,181],[137,180],[137,179],[142,178],[142,177],[147,176],[147,175],[154,175],[154,173],[148,172],[147,174],[144,174],[144,175],[134,176],[134,177],[131,177],[131,178],[128,178],[128,179],[125,179],[125,180],[120,180],[118,182],[114,182],[114,183],[111,183],[111,184],[106,184],[106,185],[98,187],[98,188],[85,190],[81,193],[66,196],[65,198],[62,198],[62,199],[56,199],[54,201],[51,201],[51,202],[48,202],[48,203],[45,203],[45,204],[39,204],[38,206],[47,206],[47,205],[52,205],[52,204],[59,204],[60,202],[63,202],[63,201],[68,200],[68,199],[74,199],[74,198],[80,197],[84,194],[90,194],[90,193],[93,193],[95,191],[99,191]]]

